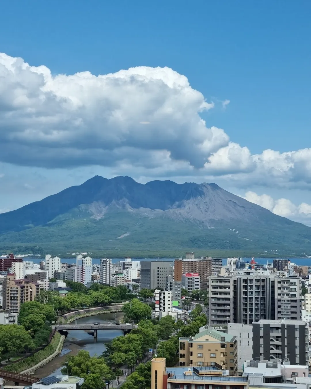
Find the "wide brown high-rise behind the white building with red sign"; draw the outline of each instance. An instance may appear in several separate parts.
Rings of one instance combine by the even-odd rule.
[[[199,273],[200,282],[207,283],[211,272],[218,272],[221,267],[222,259],[220,258],[202,257],[196,259],[186,255],[185,259],[180,258],[174,261],[174,281],[181,281],[185,273]]]

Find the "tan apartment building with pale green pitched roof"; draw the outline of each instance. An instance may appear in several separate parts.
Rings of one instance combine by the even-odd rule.
[[[179,365],[216,366],[236,375],[237,337],[208,328],[190,338],[179,338]]]

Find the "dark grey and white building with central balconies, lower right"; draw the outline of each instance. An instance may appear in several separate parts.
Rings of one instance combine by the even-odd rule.
[[[308,326],[297,320],[260,320],[253,323],[253,360],[308,364]]]

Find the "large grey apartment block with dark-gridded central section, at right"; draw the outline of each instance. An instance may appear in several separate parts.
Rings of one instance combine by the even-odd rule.
[[[239,272],[241,275],[210,277],[211,325],[226,325],[228,322],[250,325],[261,319],[301,320],[299,278],[269,275],[267,271]]]

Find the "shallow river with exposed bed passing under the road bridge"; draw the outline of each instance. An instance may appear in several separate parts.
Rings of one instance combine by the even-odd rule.
[[[77,319],[77,323],[105,323],[107,321],[114,323],[115,319],[116,321],[119,321],[122,319],[123,315],[122,312],[115,312],[82,317],[82,319]],[[124,334],[123,331],[119,329],[99,329],[97,338],[94,338],[92,335],[89,335],[82,330],[69,331],[61,354],[51,362],[42,366],[42,368],[36,370],[34,375],[43,378],[60,374],[60,371],[65,364],[66,357],[68,355],[76,355],[80,350],[88,351],[91,356],[94,356],[95,354],[100,356],[102,352],[106,350],[104,343],[111,342],[112,339],[120,335],[122,336]]]

